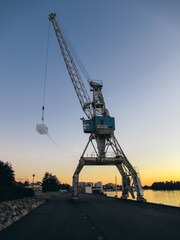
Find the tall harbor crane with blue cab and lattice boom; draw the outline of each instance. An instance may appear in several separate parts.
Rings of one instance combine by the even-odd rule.
[[[73,198],[78,198],[79,174],[84,166],[111,165],[116,166],[122,176],[121,198],[127,199],[129,193],[132,198],[135,198],[136,192],[137,200],[144,201],[139,175],[128,161],[114,135],[115,120],[114,117],[110,116],[109,111],[106,108],[102,94],[102,83],[88,79],[90,90],[93,93],[93,99],[91,101],[75,63],[75,59],[73,58],[72,51],[70,51],[68,42],[65,41],[63,31],[60,29],[56,20],[56,14],[51,13],[49,15],[49,20],[53,24],[68,73],[81,107],[87,117],[87,119],[81,119],[84,133],[90,134],[89,140],[73,175]],[[92,145],[95,154],[87,157],[85,154],[90,145]],[[108,153],[110,153],[110,151],[113,154],[109,156]]]

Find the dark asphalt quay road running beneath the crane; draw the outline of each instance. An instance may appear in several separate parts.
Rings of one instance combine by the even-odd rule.
[[[180,240],[180,208],[62,193],[0,232],[13,239]]]

